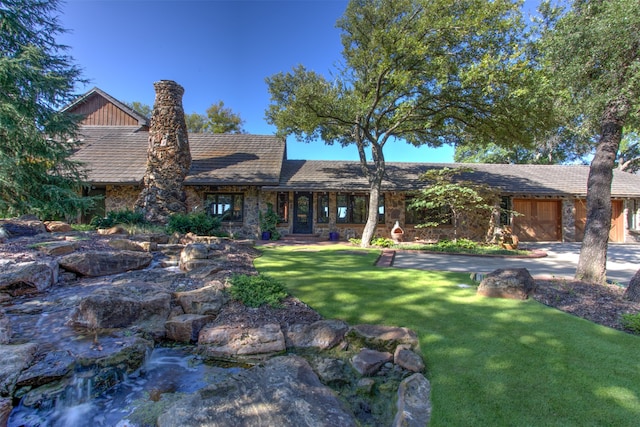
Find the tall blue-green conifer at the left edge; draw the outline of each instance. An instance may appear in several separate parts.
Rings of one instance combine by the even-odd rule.
[[[0,7],[0,216],[74,217],[89,209],[85,174],[70,160],[81,70],[55,38],[59,2],[7,0]]]

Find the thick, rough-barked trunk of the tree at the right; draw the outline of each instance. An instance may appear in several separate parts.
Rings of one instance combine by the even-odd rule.
[[[611,182],[628,111],[629,102],[617,99],[609,102],[602,114],[600,141],[587,181],[587,223],[575,275],[578,280],[591,283],[604,283],[606,280],[611,229]]]

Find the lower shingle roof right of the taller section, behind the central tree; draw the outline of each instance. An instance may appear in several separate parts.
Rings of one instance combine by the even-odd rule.
[[[589,166],[512,165],[477,163],[387,163],[382,188],[415,190],[424,185],[418,177],[428,169],[465,166],[474,169],[463,176],[499,189],[503,194],[539,196],[585,196]],[[286,160],[278,186],[267,190],[366,191],[369,186],[359,162]],[[615,171],[614,197],[640,197],[640,176]]]

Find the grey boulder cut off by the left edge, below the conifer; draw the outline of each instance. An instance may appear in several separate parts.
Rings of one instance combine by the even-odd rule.
[[[10,295],[42,292],[58,281],[55,262],[21,262],[10,264],[0,274],[0,292]]]

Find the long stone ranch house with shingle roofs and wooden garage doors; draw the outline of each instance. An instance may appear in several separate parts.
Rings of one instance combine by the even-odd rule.
[[[133,209],[149,149],[149,122],[98,88],[65,108],[84,115],[81,147],[74,158],[86,164],[92,187],[104,196],[94,214]],[[191,168],[182,185],[189,211],[207,209],[223,228],[238,236],[259,235],[259,212],[269,204],[281,218],[282,234],[342,238],[362,234],[368,211],[368,184],[359,162],[291,160],[282,139],[268,135],[189,134]],[[448,224],[415,228],[407,210],[410,192],[430,168],[457,164],[387,163],[376,234],[389,236],[399,221],[405,240],[453,236]],[[504,206],[520,213],[501,218],[522,241],[580,241],[586,222],[588,166],[464,164],[469,178],[499,190]],[[612,186],[612,242],[640,240],[640,176],[615,171]],[[89,219],[89,217],[85,218]],[[506,223],[506,224],[505,224]],[[487,223],[466,221],[458,236],[482,239]]]

